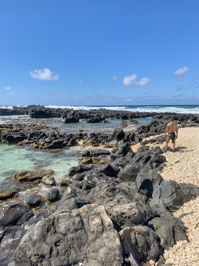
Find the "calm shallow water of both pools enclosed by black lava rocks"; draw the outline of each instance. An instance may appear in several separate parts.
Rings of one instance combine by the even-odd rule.
[[[149,124],[151,118],[135,119],[138,125],[130,125],[124,130],[136,129],[141,125]],[[43,122],[43,123],[42,123]],[[86,123],[80,120],[77,124],[62,124],[60,119],[30,119],[29,115],[24,116],[0,116],[0,124],[45,124],[57,126],[59,132],[77,133],[80,129],[84,132],[111,133],[115,127],[121,126],[121,120],[110,120],[111,123]],[[30,145],[29,145],[30,146]],[[0,143],[0,182],[6,177],[13,175],[20,170],[52,169],[55,172],[55,179],[60,180],[67,177],[68,169],[78,165],[78,158],[87,147],[74,146],[64,147],[59,151],[41,151],[25,147],[6,145]],[[100,148],[100,147],[98,147]],[[103,149],[103,147],[101,147]]]

